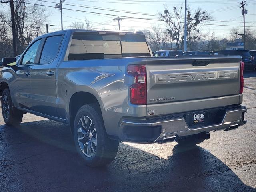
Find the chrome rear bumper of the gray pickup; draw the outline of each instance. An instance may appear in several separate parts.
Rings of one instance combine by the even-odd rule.
[[[188,126],[183,116],[172,115],[146,120],[122,120],[119,138],[122,141],[153,143],[174,141],[176,137],[189,136],[201,132],[216,130],[231,130],[242,126],[244,121],[245,106],[221,108],[222,114],[216,124],[200,124]]]

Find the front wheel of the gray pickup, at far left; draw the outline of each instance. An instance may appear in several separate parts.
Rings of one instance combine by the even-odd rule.
[[[6,125],[16,126],[23,118],[23,112],[14,108],[10,91],[4,89],[1,97],[2,116]]]

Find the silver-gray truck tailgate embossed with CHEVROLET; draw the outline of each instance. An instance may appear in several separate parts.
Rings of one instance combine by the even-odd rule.
[[[240,60],[240,56],[147,58],[148,115],[238,104]]]

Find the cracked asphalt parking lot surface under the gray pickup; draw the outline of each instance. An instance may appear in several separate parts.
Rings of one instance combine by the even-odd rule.
[[[122,143],[97,169],[74,153],[65,124],[26,114],[10,127],[0,114],[0,191],[256,192],[256,72],[245,72],[243,105],[246,125],[196,148]]]

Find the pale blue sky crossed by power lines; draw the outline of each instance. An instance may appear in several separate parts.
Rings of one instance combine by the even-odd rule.
[[[158,12],[164,11],[164,5],[168,6],[169,10],[172,10],[174,6],[184,7],[184,1],[185,0],[65,0],[62,4],[63,28],[70,28],[70,24],[74,21],[84,22],[84,18],[86,18],[90,21],[93,25],[92,28],[95,30],[101,30],[102,28],[106,30],[118,30],[118,21],[114,20],[114,18],[120,16],[120,18],[123,18],[123,20],[120,21],[121,30],[150,30],[152,25],[158,24],[165,30],[166,25],[164,22],[158,21]],[[60,0],[31,0],[30,2],[50,6],[46,7],[47,12],[50,13],[47,23],[53,25],[49,26],[49,32],[61,29],[60,11],[55,9],[55,5],[60,4]],[[241,0],[187,0],[187,6],[192,12],[196,11],[198,8],[202,8],[202,10],[211,14],[212,20],[207,22],[208,25],[204,25],[200,29],[202,34],[214,32],[219,38],[226,38],[226,36],[228,36],[226,33],[230,34],[230,30],[233,27],[238,27],[243,30],[243,17],[240,2]],[[2,5],[1,9],[2,8],[5,9],[7,7]],[[252,32],[256,32],[256,0],[247,0],[245,8],[248,10],[248,14],[245,16],[246,28]],[[111,9],[113,11],[101,9]],[[127,12],[136,12],[137,14]]]

